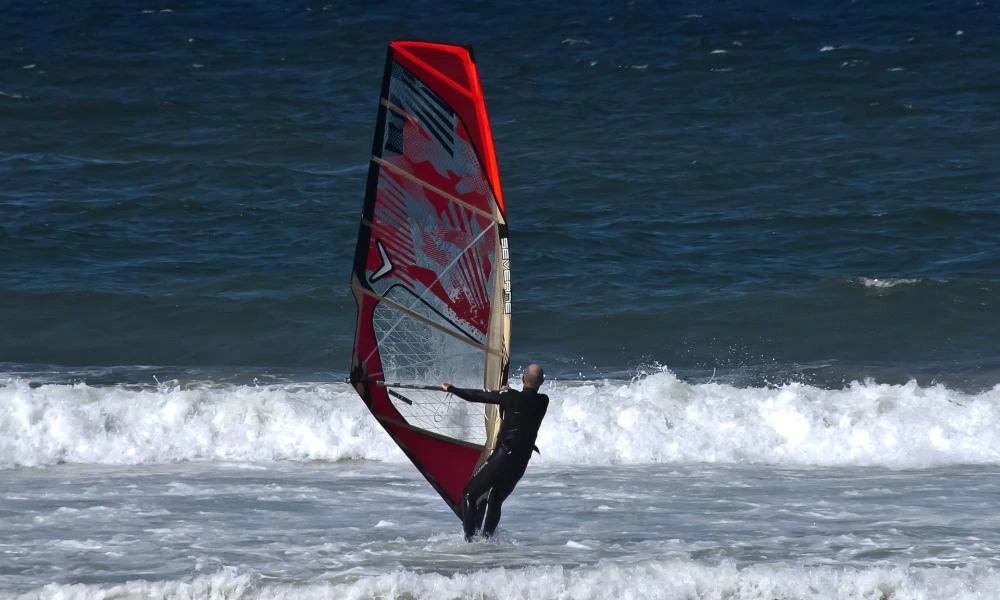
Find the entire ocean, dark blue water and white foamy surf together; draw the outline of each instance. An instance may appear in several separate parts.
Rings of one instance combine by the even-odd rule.
[[[1000,597],[988,0],[0,11],[0,598]],[[473,47],[541,454],[348,385],[386,45]]]

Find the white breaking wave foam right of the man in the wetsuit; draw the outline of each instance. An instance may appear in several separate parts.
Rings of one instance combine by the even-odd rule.
[[[1000,385],[852,383],[841,390],[691,385],[669,372],[554,394],[543,457],[587,463],[925,467],[1000,462]]]

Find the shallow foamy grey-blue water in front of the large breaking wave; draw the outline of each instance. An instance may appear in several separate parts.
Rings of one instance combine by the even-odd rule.
[[[1000,471],[971,466],[536,464],[471,545],[405,464],[4,478],[0,597],[976,598],[1000,551]]]

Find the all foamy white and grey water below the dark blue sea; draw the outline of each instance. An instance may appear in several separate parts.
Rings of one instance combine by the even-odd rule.
[[[497,538],[346,384],[0,383],[0,597],[978,598],[1000,388],[551,381]],[[946,507],[946,508],[944,508]]]

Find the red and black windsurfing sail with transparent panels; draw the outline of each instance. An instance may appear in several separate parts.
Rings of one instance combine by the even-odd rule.
[[[468,48],[389,44],[351,288],[351,383],[459,514],[500,416],[437,386],[499,389],[510,338],[507,220]]]

